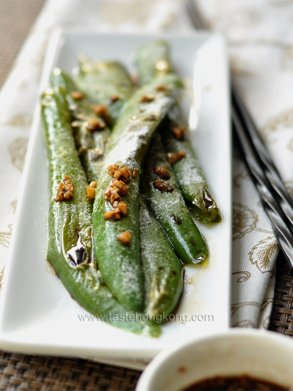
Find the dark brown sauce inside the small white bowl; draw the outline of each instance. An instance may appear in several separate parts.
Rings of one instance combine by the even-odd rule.
[[[215,376],[209,379],[204,379],[194,384],[191,384],[183,391],[204,391],[204,390],[232,390],[232,391],[246,391],[246,390],[262,390],[262,391],[276,391],[276,390],[290,390],[289,388],[280,386],[264,379],[258,379],[248,375],[242,376]]]

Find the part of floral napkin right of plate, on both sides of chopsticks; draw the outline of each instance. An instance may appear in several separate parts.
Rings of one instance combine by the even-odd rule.
[[[231,69],[293,195],[293,1],[200,1],[227,39]],[[278,245],[244,164],[233,162],[232,326],[270,320]]]

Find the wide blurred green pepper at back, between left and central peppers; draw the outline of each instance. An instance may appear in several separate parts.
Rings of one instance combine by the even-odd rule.
[[[107,105],[114,125],[120,117],[123,104],[134,91],[128,72],[117,62],[94,62],[84,55],[79,60],[77,86],[92,103]]]

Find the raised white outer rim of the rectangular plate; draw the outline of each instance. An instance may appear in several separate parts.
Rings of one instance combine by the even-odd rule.
[[[227,70],[227,73],[229,72],[229,67],[228,67],[228,56],[227,56],[227,49],[226,49],[226,45],[225,45],[225,41],[222,37],[222,35],[218,32],[207,32],[207,31],[196,31],[196,32],[187,32],[187,33],[179,33],[179,34],[170,34],[170,33],[167,33],[167,32],[157,32],[157,33],[151,33],[151,32],[146,32],[146,33],[129,33],[129,32],[119,32],[119,33],[111,33],[111,32],[106,32],[106,33],[101,33],[99,31],[95,31],[95,30],[86,30],[86,29],[74,29],[74,28],[66,28],[66,29],[63,29],[59,26],[55,27],[51,34],[50,34],[50,37],[49,37],[49,40],[48,40],[48,44],[47,44],[47,49],[46,49],[46,55],[45,55],[45,60],[44,60],[44,64],[43,64],[43,70],[42,70],[42,78],[41,78],[41,82],[40,82],[40,86],[39,86],[39,93],[38,93],[38,96],[40,95],[40,93],[43,91],[43,89],[47,86],[47,82],[48,82],[48,77],[49,77],[49,73],[54,65],[54,62],[56,60],[56,57],[58,56],[59,52],[58,52],[58,45],[60,45],[61,43],[61,40],[65,37],[66,35],[96,35],[96,36],[110,36],[110,37],[115,37],[115,36],[123,36],[124,38],[127,38],[128,36],[129,37],[137,37],[137,36],[141,36],[141,37],[147,37],[147,38],[157,38],[157,37],[161,37],[162,39],[164,38],[168,38],[168,39],[172,39],[172,37],[179,37],[179,38],[198,38],[198,37],[206,37],[206,38],[213,38],[213,37],[219,37],[222,41],[222,44],[223,44],[223,50],[225,51],[225,61],[226,61],[226,70]],[[54,54],[52,56],[52,53]],[[228,76],[228,79],[229,80],[229,76]],[[229,83],[227,85],[227,91],[229,91]],[[229,99],[229,98],[228,98]],[[61,347],[56,345],[46,345],[46,344],[33,344],[33,343],[28,343],[28,344],[25,344],[25,343],[18,343],[18,342],[13,342],[10,340],[9,338],[9,334],[6,333],[6,338],[5,338],[5,332],[2,331],[2,322],[3,322],[3,307],[4,307],[4,303],[5,303],[5,297],[6,297],[6,293],[7,293],[7,286],[8,286],[8,283],[9,283],[9,278],[10,278],[10,266],[11,266],[11,260],[12,260],[12,257],[13,257],[13,252],[14,252],[14,249],[15,249],[15,246],[17,245],[16,243],[16,234],[18,232],[18,224],[19,224],[19,221],[20,221],[20,215],[21,215],[21,211],[23,209],[23,198],[24,198],[24,184],[26,183],[26,180],[27,180],[27,177],[28,177],[28,174],[29,174],[29,166],[30,166],[30,162],[33,158],[33,152],[34,152],[34,145],[35,145],[35,142],[36,142],[36,138],[37,138],[37,134],[38,134],[38,131],[39,131],[39,128],[40,128],[40,122],[41,122],[41,103],[39,101],[39,99],[37,99],[36,101],[36,107],[35,107],[35,110],[34,110],[34,117],[33,117],[33,124],[32,124],[32,130],[31,130],[31,134],[30,134],[30,137],[29,137],[29,143],[28,143],[28,149],[27,149],[27,154],[26,154],[26,158],[25,158],[25,164],[24,164],[24,169],[23,169],[23,174],[22,174],[22,177],[21,177],[21,185],[20,185],[20,189],[22,189],[19,193],[19,197],[18,197],[18,203],[17,203],[17,208],[16,208],[16,213],[15,213],[15,216],[14,216],[14,221],[13,221],[13,229],[12,229],[12,235],[11,235],[11,241],[10,241],[10,246],[9,246],[9,252],[8,252],[8,257],[7,257],[7,261],[6,261],[6,264],[5,264],[5,272],[4,272],[4,276],[3,276],[3,281],[2,281],[2,289],[1,289],[1,297],[0,297],[0,346],[1,348],[4,348],[6,350],[10,350],[10,351],[21,351],[22,353],[37,353],[37,354],[56,354],[56,355],[64,355],[64,356],[70,356],[70,355],[78,355],[79,357],[85,357],[85,356],[88,356],[88,357],[99,357],[99,356],[103,356],[103,357],[116,357],[116,358],[122,358],[122,357],[125,357],[125,349],[121,348],[113,348],[113,347],[110,347],[110,348],[107,348],[105,350],[100,349],[98,351],[98,355],[95,354],[95,355],[91,355],[91,352],[88,352],[89,354],[84,354],[82,351],[83,351],[83,348],[80,348],[80,347],[69,347],[67,346],[66,347],[66,353],[64,353],[64,348],[65,347]],[[228,112],[227,112],[227,118],[230,118],[230,110],[228,109]],[[228,133],[229,133],[229,150],[230,150],[230,162],[232,163],[232,160],[231,160],[231,154],[232,154],[232,148],[231,148],[231,128],[229,127],[229,130],[228,130]],[[230,263],[229,263],[229,277],[228,277],[228,281],[229,281],[229,288],[231,287],[231,278],[230,278],[230,272],[231,272],[231,245],[232,245],[232,241],[231,241],[231,217],[232,217],[232,214],[231,214],[231,210],[232,210],[232,203],[231,203],[231,200],[232,200],[232,197],[231,197],[231,194],[232,194],[232,187],[231,187],[231,170],[232,170],[232,164],[230,165],[230,173],[229,173],[229,178],[230,178],[230,192],[229,192],[229,212],[228,212],[228,216],[230,217],[230,229],[228,230],[228,237],[229,237],[229,240],[230,240],[230,250],[229,250],[229,256],[230,256]],[[228,291],[230,292],[230,289],[228,289]],[[230,305],[230,295],[228,297],[228,307]],[[230,308],[230,307],[229,307]],[[228,327],[230,326],[230,313],[228,311]],[[8,338],[7,338],[8,337]],[[23,349],[22,349],[23,348]],[[63,350],[63,351],[58,351],[58,350]],[[129,350],[127,351],[127,357],[142,357],[142,358],[152,358],[155,354],[157,354],[159,351],[161,351],[161,348],[158,348],[158,349],[152,349],[152,352],[150,352],[150,350],[147,350],[147,351],[143,351],[144,348],[139,348],[139,347],[131,347],[129,348]],[[47,353],[46,353],[47,351]],[[137,352],[140,351],[140,352],[143,352],[142,354],[140,354],[139,356],[137,356]],[[115,353],[115,355],[113,354],[109,354],[109,353]],[[92,353],[94,353],[94,351],[92,351]]]

